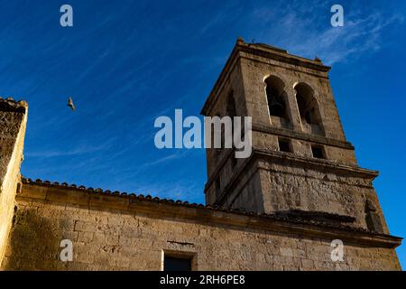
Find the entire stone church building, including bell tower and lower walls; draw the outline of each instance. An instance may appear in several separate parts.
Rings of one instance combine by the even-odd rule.
[[[328,70],[238,39],[202,109],[253,117],[253,154],[208,149],[207,205],[20,175],[28,106],[0,100],[2,270],[401,270]],[[60,260],[60,242],[73,260]],[[333,240],[343,244],[332,258]]]

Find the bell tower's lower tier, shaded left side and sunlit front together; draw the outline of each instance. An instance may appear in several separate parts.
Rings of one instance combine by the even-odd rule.
[[[365,205],[374,204],[381,233],[389,233],[383,213],[368,173],[347,168],[324,166],[324,161],[307,163],[306,166],[289,160],[288,156],[272,162],[265,156],[252,160],[237,176],[235,186],[226,189],[224,208],[272,213],[288,210],[325,211],[331,214],[354,217],[351,224],[367,228]],[[324,166],[324,167],[323,167]],[[305,189],[304,189],[305,188]],[[261,191],[262,193],[258,193]]]

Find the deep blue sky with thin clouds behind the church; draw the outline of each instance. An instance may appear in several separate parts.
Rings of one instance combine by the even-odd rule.
[[[72,28],[60,27],[63,4]],[[330,25],[334,4],[344,27]],[[405,12],[401,0],[1,0],[0,93],[30,106],[23,175],[204,202],[204,150],[157,150],[153,121],[198,115],[242,36],[333,65],[346,137],[381,172],[391,233],[406,237]]]

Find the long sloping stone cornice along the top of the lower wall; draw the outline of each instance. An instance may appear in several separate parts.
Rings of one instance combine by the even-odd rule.
[[[236,229],[256,228],[272,232],[297,234],[301,238],[337,238],[346,243],[374,247],[398,247],[402,238],[377,234],[362,228],[337,226],[323,222],[287,218],[270,214],[256,214],[244,210],[223,210],[188,202],[161,200],[142,195],[94,191],[51,182],[30,182],[23,179],[18,200],[80,206],[88,210],[119,210],[123,213],[142,213],[149,218],[177,218],[205,225],[226,225]]]

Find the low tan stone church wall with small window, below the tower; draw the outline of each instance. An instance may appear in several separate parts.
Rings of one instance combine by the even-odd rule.
[[[36,183],[17,202],[5,270],[161,270],[162,252],[193,256],[195,270],[401,269],[400,239],[366,231]],[[73,262],[59,260],[65,238]]]

